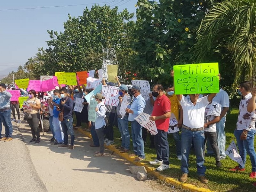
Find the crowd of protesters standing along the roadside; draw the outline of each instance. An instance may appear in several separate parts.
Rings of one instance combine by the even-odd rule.
[[[171,72],[174,76],[174,72]],[[119,104],[117,107],[104,104],[105,97],[102,93],[93,96],[97,102],[95,108],[96,120],[88,120],[88,110],[90,103],[84,98],[93,89],[86,89],[84,85],[56,87],[49,93],[38,93],[35,90],[26,92],[20,89],[21,95],[29,98],[24,112],[30,113],[32,118],[28,119],[31,128],[32,139],[30,143],[39,143],[40,135],[38,123],[40,120],[40,110],[48,108],[50,115],[50,129],[52,131],[52,145],[59,148],[75,149],[74,129],[81,126],[82,122],[88,124],[88,131],[92,134],[91,147],[99,147],[94,156],[104,156],[104,145],[114,143],[113,126],[116,126],[121,134],[121,145],[117,148],[120,153],[129,153],[129,157],[134,158],[134,162],[145,160],[144,145],[148,130],[135,120],[142,112],[150,115],[149,119],[155,121],[157,134],[150,135],[150,148],[156,149],[156,159],[150,164],[159,165],[156,170],[163,171],[169,168],[169,143],[168,134],[172,134],[176,145],[176,155],[181,161],[182,175],[181,182],[186,182],[189,172],[189,154],[194,149],[196,155],[197,174],[202,183],[208,183],[205,177],[206,167],[204,166],[204,156],[215,156],[216,166],[221,167],[221,160],[226,158],[225,154],[225,122],[227,111],[229,110],[229,98],[227,92],[220,88],[220,92],[211,94],[189,94],[175,95],[175,87],[171,84],[163,87],[162,84],[155,84],[149,99],[145,100],[141,94],[141,87],[138,84],[127,86],[121,84],[116,78],[117,84],[102,81],[103,85],[119,87]],[[15,88],[14,88],[15,89]],[[6,88],[5,84],[0,84],[0,132],[2,123],[5,127],[5,136],[0,140],[8,142],[12,140],[12,121],[16,121],[15,109],[20,123],[20,110],[18,102],[10,102],[12,95],[8,92],[11,87]],[[239,105],[239,115],[237,126],[234,132],[239,154],[245,164],[246,153],[249,154],[252,172],[250,178],[256,178],[256,153],[254,149],[255,121],[256,121],[256,89],[248,81],[241,82],[239,94],[242,100]],[[42,96],[48,101],[44,104],[37,97]],[[84,99],[83,110],[74,112],[75,98]],[[125,115],[121,115],[121,104],[124,97],[127,97],[127,108]],[[126,100],[125,100],[126,101]],[[17,107],[18,106],[18,107]],[[11,111],[13,119],[11,119]],[[61,113],[61,115],[60,115]],[[73,126],[73,115],[76,116],[76,125]],[[106,121],[106,119],[108,121]],[[173,126],[173,119],[176,124]],[[172,123],[171,123],[172,121]],[[106,123],[107,122],[107,123]],[[131,124],[131,133],[129,131]],[[181,131],[181,132],[180,132]],[[70,144],[68,145],[68,136]],[[132,150],[130,148],[132,139]],[[207,153],[205,154],[207,147]],[[230,171],[244,171],[244,165],[238,164]]]

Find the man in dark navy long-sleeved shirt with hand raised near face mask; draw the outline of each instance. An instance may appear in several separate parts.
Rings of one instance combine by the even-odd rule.
[[[59,147],[68,147],[68,150],[74,149],[75,134],[73,129],[73,100],[68,97],[66,89],[60,90],[60,111],[63,110],[63,121],[61,121],[61,127],[64,134],[64,143]],[[68,146],[68,132],[70,133],[70,146]]]

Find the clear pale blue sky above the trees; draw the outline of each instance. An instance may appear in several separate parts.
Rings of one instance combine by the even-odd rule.
[[[47,29],[62,32],[68,13],[72,17],[80,16],[86,6],[90,9],[93,4],[118,6],[119,11],[127,8],[129,12],[136,12],[136,3],[137,0],[1,1],[0,79],[17,71],[28,58],[35,56],[38,48],[46,48],[46,41],[50,40]]]

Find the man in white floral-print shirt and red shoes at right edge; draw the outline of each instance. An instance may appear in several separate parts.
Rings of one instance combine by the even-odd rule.
[[[238,164],[234,169],[230,171],[245,171],[246,152],[250,156],[252,163],[252,172],[250,178],[256,178],[256,153],[254,149],[254,136],[255,136],[255,99],[256,90],[253,90],[253,96],[250,92],[251,83],[244,81],[240,83],[239,93],[242,94],[243,99],[239,104],[239,115],[236,123],[236,130],[234,135],[236,137],[237,146],[239,149],[239,155],[243,159],[244,165]]]

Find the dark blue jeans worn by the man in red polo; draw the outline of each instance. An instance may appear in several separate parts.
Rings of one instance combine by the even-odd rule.
[[[156,159],[163,161],[164,164],[169,165],[169,143],[167,132],[157,129],[157,134],[154,135],[155,147],[156,147]]]

